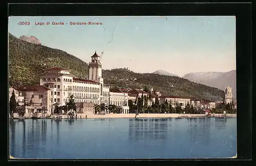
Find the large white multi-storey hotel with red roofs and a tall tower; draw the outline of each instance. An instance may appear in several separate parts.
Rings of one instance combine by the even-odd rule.
[[[51,104],[66,105],[69,97],[74,95],[76,103],[104,103],[108,106],[110,85],[103,82],[102,63],[96,52],[88,67],[89,79],[75,78],[70,70],[59,67],[44,69],[40,85],[51,89]]]

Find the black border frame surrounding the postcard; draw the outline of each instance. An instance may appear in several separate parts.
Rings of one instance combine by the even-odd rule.
[[[225,4],[209,4],[209,3],[194,3],[194,4],[9,4],[8,16],[111,16],[111,15],[234,15],[236,16],[236,43],[237,43],[237,99],[239,101],[237,113],[237,159],[148,159],[148,160],[125,160],[120,159],[118,161],[126,161],[130,163],[137,163],[136,161],[143,161],[148,164],[148,161],[164,161],[160,163],[170,164],[169,161],[174,161],[175,164],[182,161],[183,164],[191,164],[190,161],[196,161],[197,164],[202,161],[211,161],[211,163],[226,163],[226,161],[233,164],[234,161],[240,160],[240,164],[245,164],[252,159],[251,151],[251,120],[252,120],[252,63],[251,63],[251,15],[252,4],[251,3],[225,3]],[[6,37],[8,37],[8,28]],[[8,38],[7,38],[8,39]],[[8,45],[7,45],[8,46]],[[8,49],[8,47],[6,47]],[[8,52],[8,51],[7,51]],[[7,55],[7,54],[6,54]],[[7,56],[6,56],[7,57]],[[8,61],[8,58],[7,58]],[[2,61],[5,66],[5,62]],[[8,63],[6,63],[8,64]],[[5,68],[8,77],[8,68]],[[8,87],[8,82],[7,87]],[[6,87],[6,86],[5,86]],[[5,111],[8,116],[8,112]],[[5,121],[4,130],[8,129],[8,119]],[[2,130],[2,131],[4,131]],[[8,130],[4,134],[7,136]],[[4,152],[9,151],[8,144],[6,144]],[[4,157],[4,156],[2,156]],[[9,154],[4,157],[4,160],[9,158]],[[30,160],[34,163],[37,160]],[[243,160],[243,161],[241,161]],[[9,163],[17,164],[15,160],[9,159]],[[74,160],[51,160],[59,161],[61,163],[74,163]],[[83,162],[80,162],[83,161]],[[91,160],[76,160],[76,163],[87,164],[100,163],[101,159],[90,162]],[[109,159],[106,161],[114,161]],[[132,162],[135,161],[135,162]],[[24,164],[28,164],[28,161],[24,160]],[[151,162],[154,163],[154,162]],[[157,162],[155,162],[156,164]],[[20,164],[20,163],[18,163]]]

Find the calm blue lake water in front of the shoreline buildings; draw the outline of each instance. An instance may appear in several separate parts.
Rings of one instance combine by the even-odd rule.
[[[16,158],[226,158],[237,118],[10,120]]]

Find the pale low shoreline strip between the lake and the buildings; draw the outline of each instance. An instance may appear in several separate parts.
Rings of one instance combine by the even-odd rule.
[[[135,118],[136,114],[81,114],[77,113],[78,118]],[[205,114],[178,114],[178,113],[142,113],[138,114],[136,118],[196,118],[196,117],[237,117],[237,114],[211,114],[206,116]],[[14,119],[32,119],[31,117],[17,117]],[[39,117],[36,119],[44,119],[44,117]],[[52,115],[46,119],[69,119],[68,115]],[[73,119],[76,119],[75,117]]]

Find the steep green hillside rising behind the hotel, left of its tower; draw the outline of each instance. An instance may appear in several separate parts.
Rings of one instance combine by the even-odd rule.
[[[9,34],[10,85],[39,84],[38,75],[48,67],[72,70],[76,77],[87,77],[87,63],[64,51],[29,43]]]

